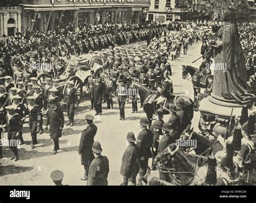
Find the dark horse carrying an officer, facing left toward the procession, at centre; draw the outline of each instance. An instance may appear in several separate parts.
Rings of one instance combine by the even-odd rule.
[[[131,88],[137,88],[139,90],[140,100],[143,103],[143,110],[147,115],[147,120],[152,120],[153,114],[156,111],[156,102],[154,101],[156,101],[156,99],[160,96],[159,91],[156,90],[155,92],[153,92],[152,90],[144,87],[138,82],[133,82]],[[176,106],[179,110],[177,114],[180,116],[181,121],[185,121],[185,129],[186,126],[191,122],[194,115],[193,101],[187,96],[171,95],[170,99],[165,102],[162,108],[165,115],[171,113],[171,111],[169,110],[170,106]]]

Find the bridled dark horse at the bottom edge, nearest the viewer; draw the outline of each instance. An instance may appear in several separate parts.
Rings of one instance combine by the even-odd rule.
[[[170,176],[170,183],[154,177],[150,180],[150,185],[228,185],[227,172],[215,170],[217,162],[210,166],[208,157],[185,153],[176,144],[168,145],[154,159],[154,164],[159,171]],[[206,176],[210,172],[208,178],[213,180],[212,183],[209,179],[206,181]]]

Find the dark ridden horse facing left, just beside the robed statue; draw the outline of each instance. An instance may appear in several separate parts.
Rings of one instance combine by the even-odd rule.
[[[193,83],[193,77],[197,71],[198,69],[193,66],[182,65],[182,78],[185,80],[188,74],[190,74],[192,77],[192,83]],[[209,92],[209,93],[212,90],[212,85],[213,85],[213,75],[203,76],[203,78],[201,78],[199,82],[199,87],[206,89],[205,92]],[[193,87],[195,97],[197,97],[197,94],[198,94],[197,88],[199,87]]]

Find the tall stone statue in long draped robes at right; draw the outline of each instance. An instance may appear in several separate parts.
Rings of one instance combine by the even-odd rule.
[[[226,24],[219,30],[216,44],[210,44],[215,55],[212,98],[224,103],[233,102],[240,106],[252,107],[254,95],[248,91],[246,83],[245,58],[234,12],[226,10],[224,21]],[[219,104],[221,105],[221,102]]]

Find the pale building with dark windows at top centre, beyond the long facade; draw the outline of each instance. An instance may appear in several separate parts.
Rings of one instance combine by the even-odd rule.
[[[147,20],[155,22],[165,22],[170,20],[182,20],[187,9],[176,8],[175,0],[151,0]]]

